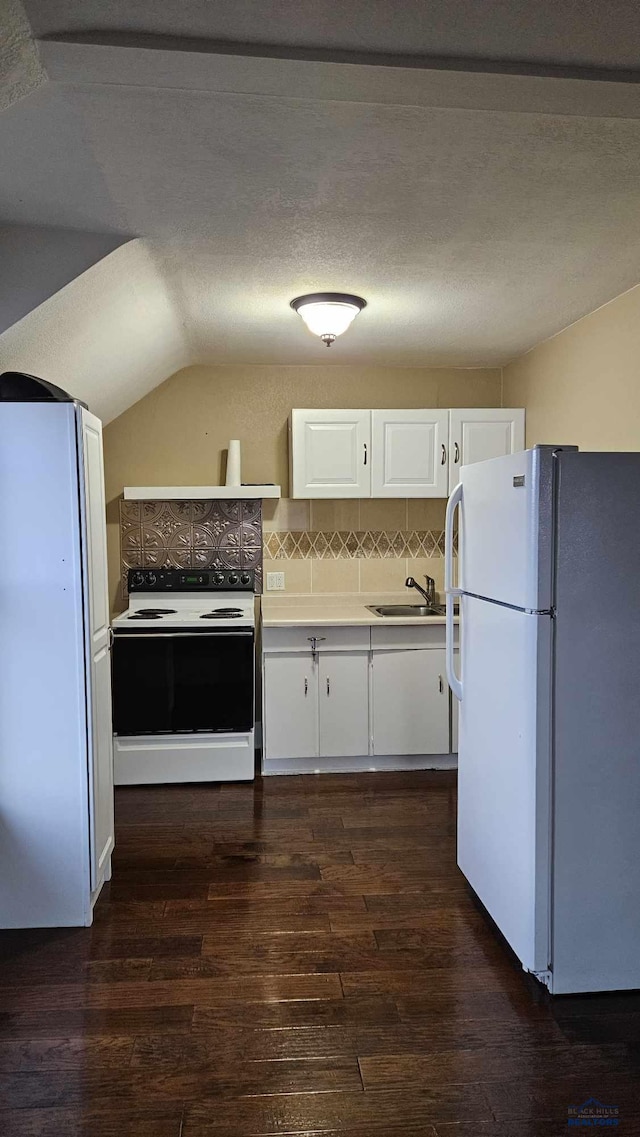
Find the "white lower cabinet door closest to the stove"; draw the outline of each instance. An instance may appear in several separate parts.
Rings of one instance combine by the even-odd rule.
[[[315,758],[318,677],[310,652],[265,655],[265,758]]]

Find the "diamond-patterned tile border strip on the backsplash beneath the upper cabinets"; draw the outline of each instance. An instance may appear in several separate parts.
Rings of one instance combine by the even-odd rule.
[[[265,533],[264,554],[271,561],[339,559],[344,557],[443,557],[442,530],[387,532],[313,532],[288,530]]]

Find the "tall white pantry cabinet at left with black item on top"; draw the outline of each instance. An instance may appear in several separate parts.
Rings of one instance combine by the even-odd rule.
[[[0,928],[90,924],[114,848],[102,429],[47,389],[0,375]]]

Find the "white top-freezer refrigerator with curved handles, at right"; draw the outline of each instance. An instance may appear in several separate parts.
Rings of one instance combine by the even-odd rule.
[[[447,508],[458,864],[554,994],[640,987],[639,509],[640,454],[551,446]]]

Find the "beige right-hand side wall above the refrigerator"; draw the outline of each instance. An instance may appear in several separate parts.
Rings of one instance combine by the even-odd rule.
[[[502,405],[526,407],[526,445],[640,449],[640,285],[505,367]]]

